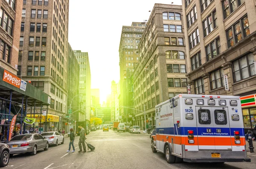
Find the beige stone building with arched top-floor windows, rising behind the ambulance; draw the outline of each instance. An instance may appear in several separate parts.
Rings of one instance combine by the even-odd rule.
[[[187,93],[182,6],[155,4],[133,73],[135,123],[155,125],[155,105]],[[146,113],[146,119],[144,118]]]

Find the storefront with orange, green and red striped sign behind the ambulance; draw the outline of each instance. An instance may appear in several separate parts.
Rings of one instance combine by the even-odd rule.
[[[256,126],[256,94],[241,97],[244,130],[254,129]]]

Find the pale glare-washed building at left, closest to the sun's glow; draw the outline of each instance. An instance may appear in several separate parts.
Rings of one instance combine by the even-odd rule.
[[[83,108],[79,112],[79,121],[87,121],[87,125],[90,126],[91,74],[88,52],[81,52],[80,50],[74,52],[80,68],[79,94],[82,95],[80,106]]]

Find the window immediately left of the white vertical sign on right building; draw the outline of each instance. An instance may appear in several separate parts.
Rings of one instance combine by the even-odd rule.
[[[210,73],[211,89],[218,89],[224,86],[223,69],[218,69],[215,72]]]

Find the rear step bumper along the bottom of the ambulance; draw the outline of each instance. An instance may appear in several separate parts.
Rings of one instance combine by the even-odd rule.
[[[224,162],[250,162],[250,158],[183,158],[189,163],[224,163]]]

